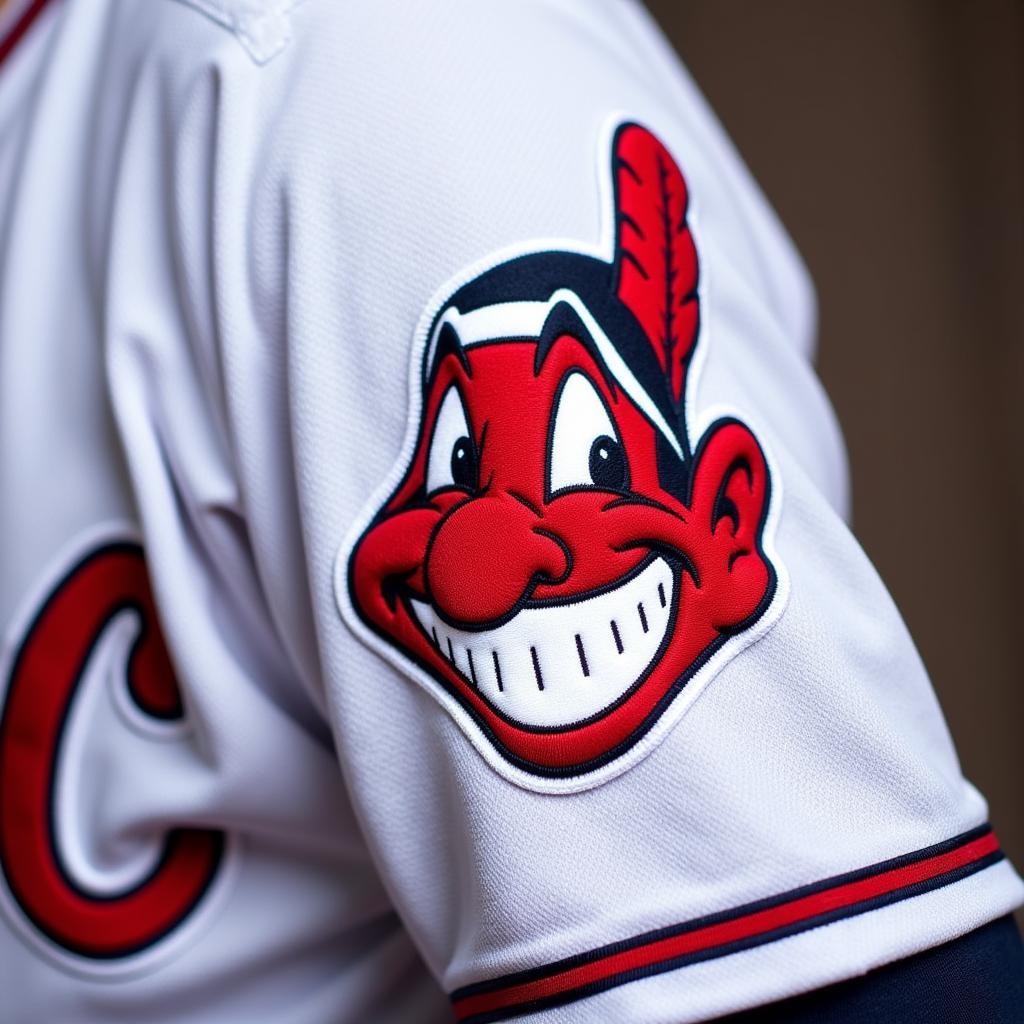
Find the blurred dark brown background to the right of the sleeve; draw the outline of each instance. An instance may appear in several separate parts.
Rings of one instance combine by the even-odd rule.
[[[648,6],[810,266],[854,529],[1024,868],[1024,3]]]

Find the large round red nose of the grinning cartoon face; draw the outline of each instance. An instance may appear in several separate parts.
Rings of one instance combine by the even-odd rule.
[[[508,614],[531,584],[567,575],[569,555],[541,516],[507,494],[460,505],[437,527],[427,585],[447,617],[487,623]]]

